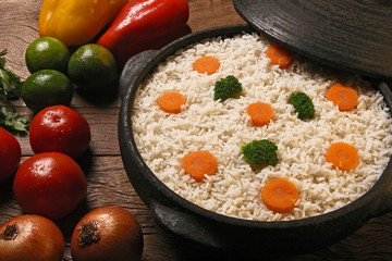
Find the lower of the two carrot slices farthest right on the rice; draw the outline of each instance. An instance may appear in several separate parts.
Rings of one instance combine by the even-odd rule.
[[[338,142],[327,150],[327,161],[343,171],[350,171],[358,165],[358,151],[352,145]]]

